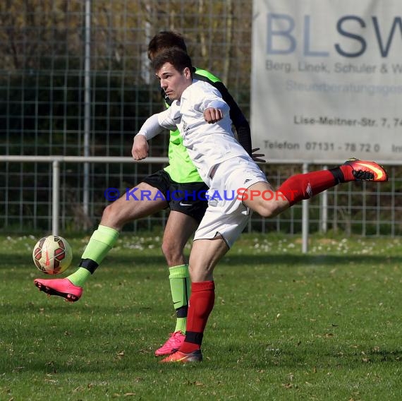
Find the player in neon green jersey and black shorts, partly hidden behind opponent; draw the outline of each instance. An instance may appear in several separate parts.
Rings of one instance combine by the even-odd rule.
[[[178,47],[187,52],[181,35],[171,31],[159,32],[150,41],[148,56],[152,60],[159,52],[171,47]],[[194,79],[206,80],[221,92],[231,108],[230,116],[236,128],[238,141],[251,155],[250,126],[224,84],[212,73],[200,69],[195,69]],[[169,107],[171,100],[168,94],[163,93],[163,95],[166,106]],[[255,155],[255,160],[258,161],[259,156],[261,155]],[[83,294],[83,285],[114,246],[123,226],[127,222],[170,208],[162,240],[162,252],[169,266],[171,296],[176,310],[176,327],[164,345],[155,351],[155,355],[169,355],[175,352],[185,338],[191,288],[188,262],[183,249],[207,209],[205,199],[207,189],[188,157],[178,131],[172,131],[169,138],[169,165],[147,176],[138,186],[130,190],[137,194],[147,191],[148,196],[139,199],[129,197],[127,200],[125,195],[106,206],[99,227],[92,234],[83,253],[78,270],[62,279],[36,279],[35,285],[49,295],[58,295],[71,302],[78,301]],[[160,196],[161,193],[163,196]],[[172,194],[174,196],[171,196]]]

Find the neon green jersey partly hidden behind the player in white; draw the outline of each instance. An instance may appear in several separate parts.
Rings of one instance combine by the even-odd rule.
[[[212,73],[198,68],[195,68],[193,77],[197,80],[205,80],[212,85],[221,82],[221,80],[213,76]],[[200,174],[198,174],[193,162],[190,160],[190,157],[188,157],[188,152],[183,146],[183,138],[181,138],[178,130],[170,132],[168,157],[169,165],[165,167],[164,170],[173,181],[182,184],[202,181]]]

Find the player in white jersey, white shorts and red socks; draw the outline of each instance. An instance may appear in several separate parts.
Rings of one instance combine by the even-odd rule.
[[[341,182],[386,181],[387,174],[375,162],[351,159],[334,169],[291,176],[274,191],[234,138],[229,107],[219,91],[205,82],[193,83],[188,54],[169,49],[159,54],[153,65],[161,87],[173,102],[169,109],[145,121],[134,138],[133,158],[147,157],[147,140],[163,128],[177,126],[190,159],[209,186],[208,208],[190,253],[192,285],[185,341],[177,352],[162,360],[187,363],[202,360],[202,337],[214,306],[214,267],[243,231],[250,210],[262,217],[274,217]]]

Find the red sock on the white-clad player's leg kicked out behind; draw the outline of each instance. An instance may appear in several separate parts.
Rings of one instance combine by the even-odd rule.
[[[334,174],[329,170],[322,170],[291,176],[278,188],[278,192],[283,193],[288,202],[294,205],[300,200],[310,199],[317,193],[325,191],[338,183],[339,181],[336,181]]]

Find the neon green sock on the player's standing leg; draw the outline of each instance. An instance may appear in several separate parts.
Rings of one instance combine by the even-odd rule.
[[[188,299],[190,298],[191,282],[188,265],[178,265],[169,268],[169,281],[173,307],[176,309],[176,328],[185,333],[187,323]]]

